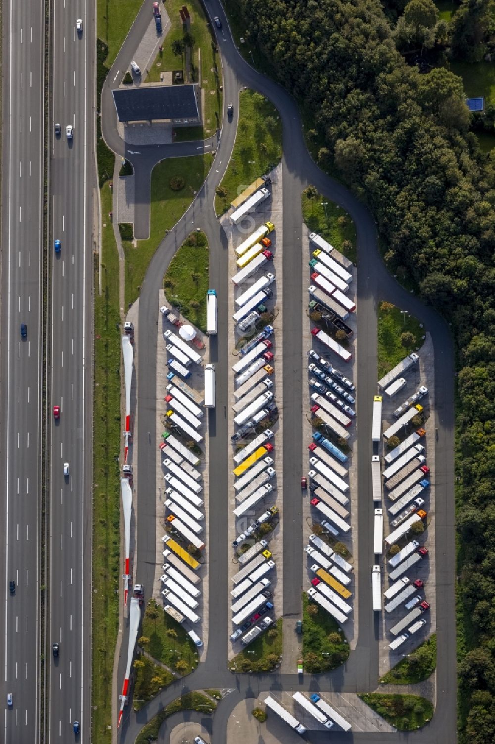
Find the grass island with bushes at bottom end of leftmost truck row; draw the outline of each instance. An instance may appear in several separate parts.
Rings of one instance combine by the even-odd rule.
[[[155,600],[150,600],[146,607],[141,635],[149,638],[146,651],[170,669],[181,672],[176,669],[178,661],[186,661],[189,667],[187,671],[183,670],[186,674],[198,666],[195,644],[181,624],[164,612]]]

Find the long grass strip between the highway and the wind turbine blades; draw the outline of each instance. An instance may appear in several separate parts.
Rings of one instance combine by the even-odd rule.
[[[108,184],[102,214],[111,211]],[[111,679],[120,589],[120,315],[119,260],[111,222],[103,218],[102,295],[94,270],[93,417],[93,699],[92,739],[111,742]]]

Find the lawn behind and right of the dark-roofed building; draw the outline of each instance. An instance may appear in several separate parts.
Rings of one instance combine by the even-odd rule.
[[[172,42],[183,38],[184,32],[179,16],[179,10],[183,5],[184,0],[166,1],[166,12],[169,14],[172,28],[164,38],[163,51],[158,53],[149,70],[147,83],[159,82],[161,72],[178,70],[185,72],[184,56],[177,57],[172,51]],[[192,78],[194,82],[201,83],[201,89],[204,90],[204,126],[179,126],[175,129],[175,141],[205,139],[213,135],[220,126],[223,108],[221,62],[216,51],[215,36],[199,0],[190,0],[187,9],[191,16],[190,33],[194,38]],[[201,71],[198,70],[200,58]]]

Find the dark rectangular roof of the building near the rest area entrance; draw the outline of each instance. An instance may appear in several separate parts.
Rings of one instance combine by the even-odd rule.
[[[193,85],[129,86],[112,91],[119,121],[197,119]]]

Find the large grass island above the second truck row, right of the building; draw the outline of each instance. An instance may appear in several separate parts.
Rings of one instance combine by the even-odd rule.
[[[220,184],[226,189],[226,196],[215,196],[216,213],[227,211],[239,193],[268,173],[281,158],[282,123],[276,108],[261,94],[242,91],[236,144]]]

